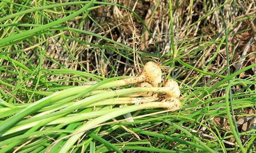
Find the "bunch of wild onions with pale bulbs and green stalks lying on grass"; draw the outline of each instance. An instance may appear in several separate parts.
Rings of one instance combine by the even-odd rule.
[[[138,77],[69,88],[31,104],[2,100],[0,152],[69,152],[77,141],[88,139],[91,129],[118,116],[154,108],[177,110],[179,86],[174,80],[162,83],[161,75],[160,64],[147,62]]]

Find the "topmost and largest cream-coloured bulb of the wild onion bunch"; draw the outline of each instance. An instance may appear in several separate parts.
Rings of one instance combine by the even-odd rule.
[[[140,77],[144,78],[145,82],[150,83],[153,87],[159,86],[162,81],[160,64],[147,62],[143,67]]]

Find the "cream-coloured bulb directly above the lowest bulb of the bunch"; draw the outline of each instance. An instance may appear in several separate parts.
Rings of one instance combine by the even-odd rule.
[[[167,80],[164,82],[164,88],[166,88],[166,96],[167,97],[176,97],[180,96],[180,88],[176,81],[174,80]]]

